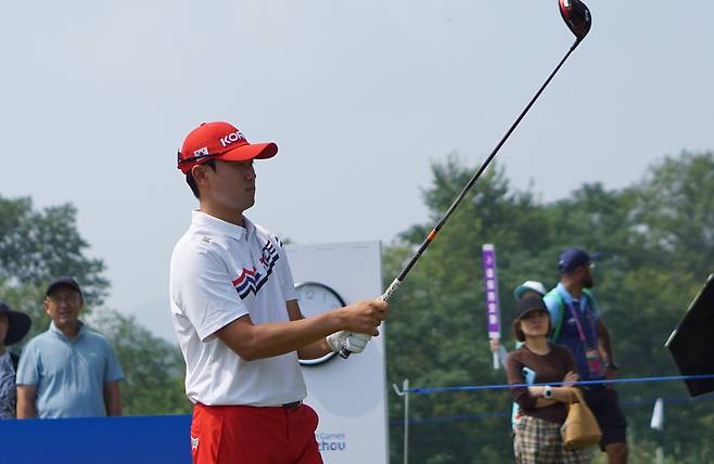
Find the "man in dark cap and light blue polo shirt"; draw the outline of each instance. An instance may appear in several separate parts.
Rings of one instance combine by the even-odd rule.
[[[44,312],[52,322],[20,359],[17,418],[122,415],[122,368],[106,338],[79,320],[84,302],[72,278],[47,287]]]

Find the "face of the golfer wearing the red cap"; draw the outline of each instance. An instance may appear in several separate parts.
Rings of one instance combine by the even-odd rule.
[[[241,211],[255,204],[255,169],[253,162],[216,162],[214,193],[227,207]]]

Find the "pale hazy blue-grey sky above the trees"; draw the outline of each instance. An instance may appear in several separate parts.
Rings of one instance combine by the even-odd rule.
[[[544,201],[714,149],[714,2],[587,3],[590,35],[497,158]],[[280,146],[256,222],[388,242],[426,219],[430,163],[480,164],[573,42],[556,0],[5,2],[0,21],[0,194],[76,205],[109,306],[169,339],[194,126]]]

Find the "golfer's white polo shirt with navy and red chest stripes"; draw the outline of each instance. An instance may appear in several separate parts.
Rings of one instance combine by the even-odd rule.
[[[295,351],[245,361],[216,336],[245,314],[254,324],[289,321],[285,301],[297,299],[280,241],[244,221],[241,228],[193,211],[171,255],[174,328],[194,403],[271,407],[306,396]]]

